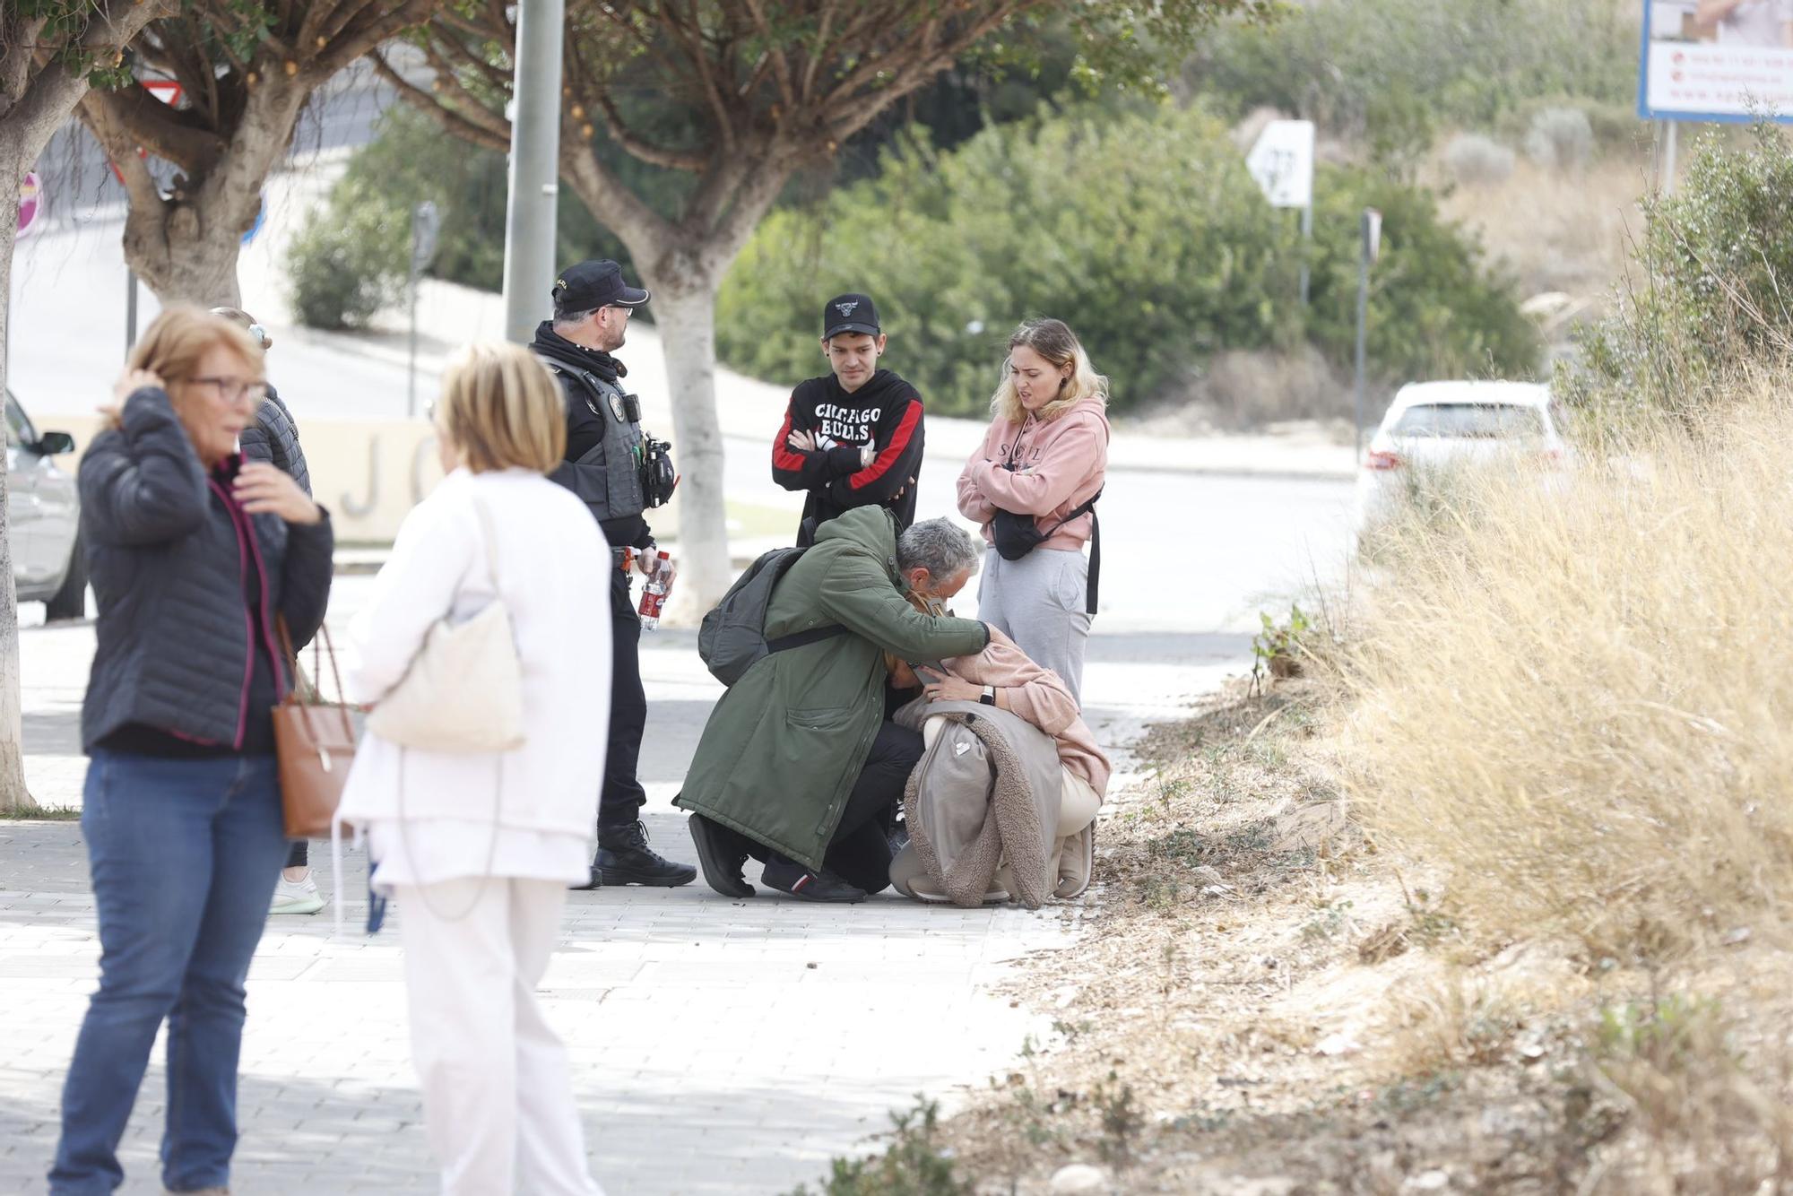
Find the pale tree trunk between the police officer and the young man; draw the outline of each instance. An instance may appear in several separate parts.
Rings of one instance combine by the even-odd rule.
[[[728,590],[728,522],[723,515],[723,429],[715,418],[714,273],[647,278],[654,326],[672,398],[672,461],[680,472],[680,581],[672,617],[696,622]]]

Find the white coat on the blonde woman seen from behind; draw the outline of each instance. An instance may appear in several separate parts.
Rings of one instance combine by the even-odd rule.
[[[610,724],[610,545],[572,491],[529,470],[455,470],[405,516],[373,597],[350,624],[351,701],[378,703],[429,628],[493,599],[479,495],[524,678],[522,748],[402,750],[366,733],[342,794],[350,825],[477,827],[525,839],[593,834]],[[400,778],[403,789],[400,789]],[[500,873],[502,875],[502,873]]]

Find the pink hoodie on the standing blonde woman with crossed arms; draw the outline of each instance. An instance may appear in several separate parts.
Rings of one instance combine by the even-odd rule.
[[[1017,468],[1004,470],[1006,461]],[[1099,398],[1045,423],[1033,416],[1018,425],[997,420],[959,473],[959,515],[983,524],[986,542],[999,507],[1033,515],[1045,531],[1101,490],[1106,472],[1108,412]],[[1078,550],[1088,538],[1090,516],[1079,515],[1040,547]]]

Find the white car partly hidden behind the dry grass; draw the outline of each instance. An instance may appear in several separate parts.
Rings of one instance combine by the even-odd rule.
[[[1438,477],[1501,461],[1565,463],[1551,391],[1535,382],[1400,387],[1357,470],[1357,533]]]

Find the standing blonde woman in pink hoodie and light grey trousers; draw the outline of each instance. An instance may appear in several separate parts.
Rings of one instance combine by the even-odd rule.
[[[1108,472],[1108,378],[1058,319],[1008,342],[984,443],[959,473],[959,513],[984,542],[977,617],[1083,703],[1083,647],[1096,613],[1083,545]]]

